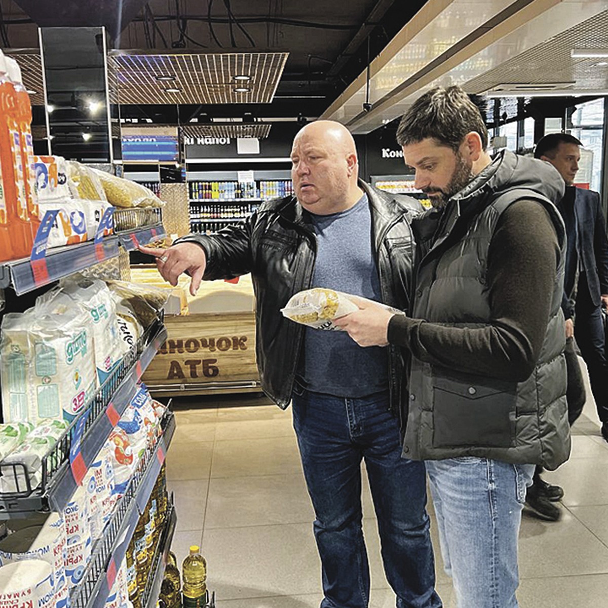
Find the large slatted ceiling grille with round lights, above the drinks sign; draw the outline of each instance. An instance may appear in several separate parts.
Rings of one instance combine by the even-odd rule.
[[[142,54],[112,51],[109,69],[122,104],[270,103],[287,57],[288,53],[282,52]],[[249,79],[235,80],[239,76]]]

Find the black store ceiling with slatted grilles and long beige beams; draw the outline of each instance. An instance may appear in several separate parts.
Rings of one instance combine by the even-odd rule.
[[[14,2],[0,5],[10,39],[4,40],[0,27],[4,46],[35,47],[35,24],[20,22],[29,18]],[[114,47],[121,52],[112,52],[111,66],[129,102],[123,117],[183,124],[240,120],[244,112],[260,122],[322,116],[362,134],[401,116],[437,85],[459,84],[472,93],[523,88],[533,95],[554,88],[561,96],[601,94],[608,90],[608,59],[573,58],[571,52],[608,49],[608,0],[351,0],[348,9],[326,0],[151,0]],[[253,91],[245,99],[230,97],[230,91],[205,97],[194,84],[206,54],[277,54],[277,75],[283,52],[288,55],[270,103],[260,103]],[[137,90],[142,57],[148,61],[150,55],[171,61],[172,69],[194,66],[182,67],[179,107],[150,77]],[[32,90],[40,90],[40,60],[38,68],[36,57],[26,61]],[[230,71],[220,72],[227,78]],[[232,81],[221,84],[232,87]],[[367,102],[371,107],[364,109]]]

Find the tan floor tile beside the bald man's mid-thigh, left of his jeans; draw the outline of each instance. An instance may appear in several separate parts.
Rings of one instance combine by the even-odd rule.
[[[302,472],[295,437],[216,441],[212,477],[289,475]]]

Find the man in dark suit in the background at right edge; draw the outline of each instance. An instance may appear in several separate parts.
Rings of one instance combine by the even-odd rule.
[[[608,307],[608,240],[606,219],[599,194],[573,186],[579,169],[582,143],[566,133],[545,135],[536,145],[534,157],[550,162],[566,182],[558,209],[564,218],[568,248],[562,309],[566,319],[568,368],[568,419],[578,418],[585,402],[581,370],[573,336],[587,364],[593,399],[601,420],[601,434],[608,441],[608,362],[604,345],[601,307]],[[548,485],[537,468],[528,488],[527,504],[543,519],[557,520],[561,511],[551,502],[564,496],[559,486]]]

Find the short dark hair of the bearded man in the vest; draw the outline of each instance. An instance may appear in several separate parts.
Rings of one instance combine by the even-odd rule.
[[[488,129],[479,108],[460,86],[437,87],[418,97],[403,115],[397,128],[397,143],[404,146],[430,137],[457,152],[471,131],[482,138],[485,150]]]

